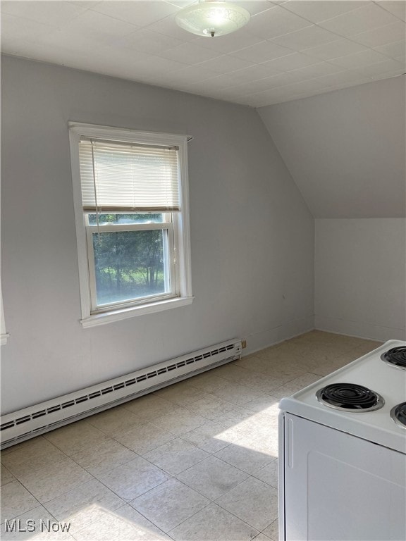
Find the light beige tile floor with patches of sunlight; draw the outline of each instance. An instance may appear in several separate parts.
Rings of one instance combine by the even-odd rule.
[[[278,400],[378,345],[307,332],[6,449],[1,539],[277,540]]]

